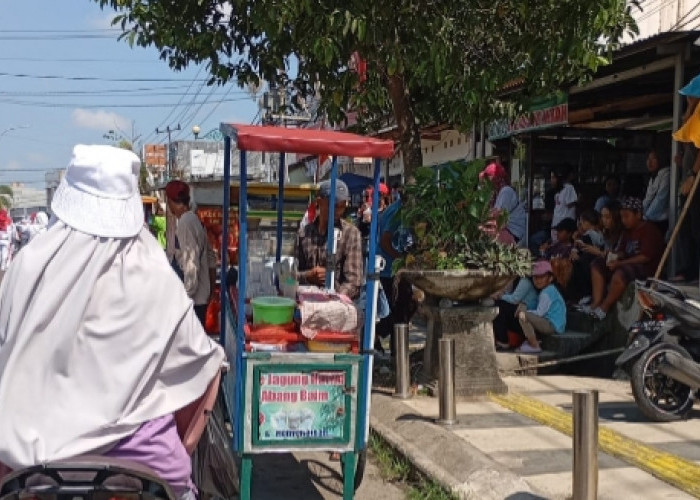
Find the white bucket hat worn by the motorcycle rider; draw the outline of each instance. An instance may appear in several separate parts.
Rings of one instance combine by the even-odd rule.
[[[136,236],[144,221],[140,168],[141,160],[133,151],[78,144],[51,200],[51,210],[84,233],[108,238]]]

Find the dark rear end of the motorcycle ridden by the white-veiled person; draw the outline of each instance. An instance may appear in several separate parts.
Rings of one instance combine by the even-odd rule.
[[[155,472],[121,459],[84,456],[17,470],[0,481],[0,500],[165,499],[170,486]]]

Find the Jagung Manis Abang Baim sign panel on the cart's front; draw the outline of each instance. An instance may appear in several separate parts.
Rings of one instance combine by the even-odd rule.
[[[348,372],[261,371],[258,375],[260,444],[347,440]]]

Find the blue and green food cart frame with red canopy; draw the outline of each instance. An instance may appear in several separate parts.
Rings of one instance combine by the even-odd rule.
[[[246,125],[221,124],[224,135],[224,198],[223,198],[223,241],[228,241],[230,184],[231,184],[231,145],[235,141],[240,150],[239,188],[239,276],[238,302],[234,315],[228,297],[227,252],[221,258],[221,344],[231,370],[223,381],[224,399],[233,429],[232,449],[241,458],[240,498],[248,500],[251,494],[252,457],[258,453],[280,453],[298,450],[335,451],[342,455],[343,498],[353,498],[359,484],[356,470],[364,467],[365,449],[369,435],[369,409],[372,387],[372,353],[374,347],[374,327],[376,318],[376,294],[379,273],[376,269],[377,254],[377,207],[379,206],[379,178],[381,159],[393,156],[391,141],[366,138],[341,132],[306,129],[284,129],[278,127],[256,127]],[[372,202],[372,222],[370,226],[369,259],[366,269],[366,297],[364,334],[359,354],[332,353],[261,353],[245,351],[245,290],[247,283],[247,151],[267,151],[280,153],[279,183],[277,194],[277,246],[276,259],[282,257],[282,204],[285,189],[285,154],[328,155],[332,157],[330,171],[331,195],[329,202],[328,262],[334,262],[334,220],[335,186],[338,175],[338,156],[373,157],[374,191]],[[331,283],[333,266],[326,270],[326,283]],[[332,286],[332,284],[330,285]],[[280,439],[263,435],[261,415],[257,414],[261,404],[262,387],[265,380],[275,380],[276,374],[287,374],[287,378],[301,377],[299,380],[329,380],[329,390],[334,394],[339,411],[336,415],[341,422],[332,438],[318,437],[312,432],[299,432],[301,438]],[[292,374],[290,377],[289,374]],[[320,375],[319,375],[320,374]],[[324,375],[325,374],[325,375]],[[330,374],[330,375],[329,375]],[[266,378],[267,377],[267,378]],[[306,377],[306,378],[303,378]],[[315,377],[315,378],[308,378]],[[319,378],[320,377],[320,378]],[[325,377],[325,378],[324,378]],[[305,390],[302,390],[305,391]],[[306,392],[304,392],[306,394]],[[330,392],[324,392],[328,397]],[[342,411],[341,411],[342,410]],[[325,431],[321,431],[323,433]],[[308,434],[308,436],[306,435]],[[286,435],[285,435],[286,436]],[[361,475],[361,474],[360,474]]]

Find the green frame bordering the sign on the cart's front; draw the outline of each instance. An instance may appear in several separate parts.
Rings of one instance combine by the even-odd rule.
[[[350,443],[350,426],[352,420],[351,405],[352,396],[350,392],[345,394],[345,419],[343,423],[343,437],[336,439],[282,439],[282,440],[261,440],[260,439],[260,420],[258,415],[260,413],[260,376],[266,373],[285,373],[285,372],[295,372],[295,373],[307,373],[315,371],[336,371],[345,372],[345,387],[349,389],[348,383],[352,384],[352,368],[353,365],[347,364],[302,364],[302,363],[284,363],[284,364],[261,364],[253,367],[253,394],[252,394],[252,411],[251,415],[251,430],[252,430],[252,440],[251,444],[254,447],[260,448],[276,448],[276,447],[289,447],[292,449],[294,446],[318,446],[318,445],[329,445],[329,444],[339,444],[347,445]],[[357,390],[357,387],[354,388]]]

